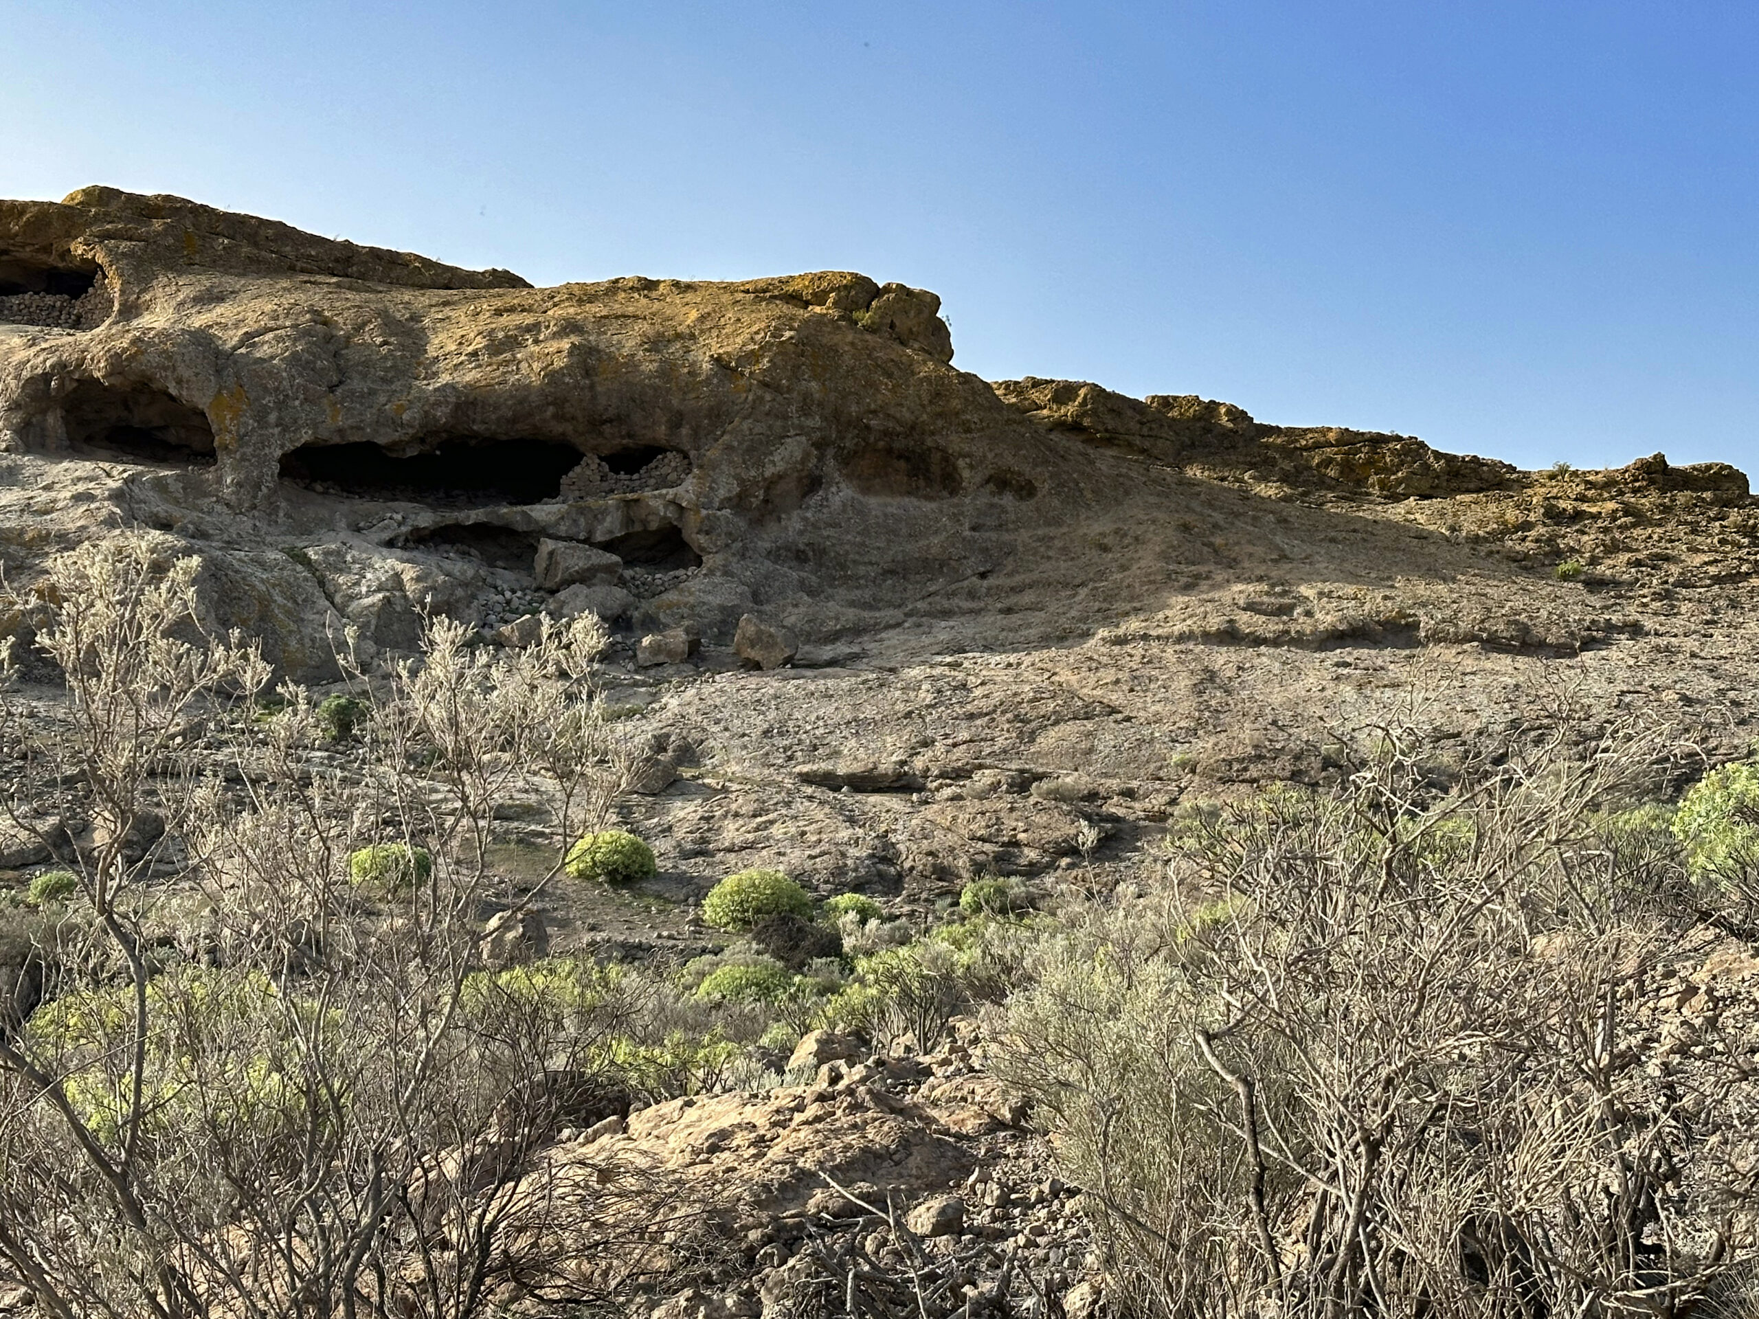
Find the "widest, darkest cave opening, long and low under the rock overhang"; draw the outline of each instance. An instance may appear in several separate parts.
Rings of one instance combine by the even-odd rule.
[[[322,494],[489,508],[554,499],[579,461],[579,448],[552,440],[445,438],[408,455],[375,443],[301,445],[281,459],[281,478]]]

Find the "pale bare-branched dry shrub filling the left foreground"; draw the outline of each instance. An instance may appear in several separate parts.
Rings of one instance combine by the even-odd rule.
[[[536,784],[568,839],[623,790],[602,628],[503,652],[434,621],[422,660],[357,675],[350,760],[303,689],[262,718],[269,668],[199,633],[193,575],[132,538],[62,559],[37,642],[67,702],[0,705],[14,818],[95,823],[44,948],[60,997],[0,1027],[0,1257],[60,1319],[468,1319],[667,1268],[674,1187],[538,1159],[626,1108],[644,1004],[478,953],[485,900],[531,900],[485,865],[494,802]],[[368,900],[368,844],[431,874]],[[192,897],[199,937],[155,946]]]

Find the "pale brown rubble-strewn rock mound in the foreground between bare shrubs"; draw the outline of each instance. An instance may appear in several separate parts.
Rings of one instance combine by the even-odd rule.
[[[688,1187],[728,1254],[637,1312],[821,1314],[853,1261],[880,1289],[909,1266],[931,1315],[1043,1310],[1101,1286],[1098,1256],[1080,1192],[1048,1171],[1024,1103],[980,1053],[966,1018],[929,1055],[862,1057],[855,1039],[814,1032],[788,1066],[828,1059],[811,1085],[639,1108],[565,1133],[533,1177],[619,1168]]]

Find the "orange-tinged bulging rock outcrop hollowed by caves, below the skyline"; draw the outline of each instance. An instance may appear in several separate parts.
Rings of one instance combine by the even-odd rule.
[[[967,542],[941,503],[1010,431],[1048,448],[946,366],[938,308],[850,273],[533,290],[174,197],[4,202],[0,480],[42,547],[146,524],[215,563],[280,554],[310,584],[216,568],[250,579],[216,621],[285,624],[303,677],[324,624],[399,649],[424,608],[510,623],[508,594],[577,584],[556,545],[616,556],[644,628],[719,640],[843,573],[823,631],[885,608],[851,521]]]

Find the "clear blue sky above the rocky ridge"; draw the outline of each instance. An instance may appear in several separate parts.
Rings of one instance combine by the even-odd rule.
[[[0,195],[860,269],[989,378],[1759,464],[1759,5],[0,0]]]

